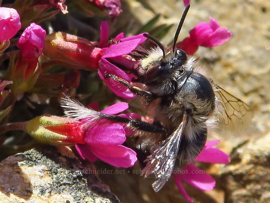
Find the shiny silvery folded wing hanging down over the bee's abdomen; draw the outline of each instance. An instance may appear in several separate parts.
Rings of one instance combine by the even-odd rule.
[[[152,184],[155,192],[158,192],[164,186],[173,173],[185,124],[186,114],[184,113],[183,121],[176,131],[160,143],[145,160],[147,164],[143,169],[143,174],[145,177],[148,177],[151,173],[155,175],[157,180]]]

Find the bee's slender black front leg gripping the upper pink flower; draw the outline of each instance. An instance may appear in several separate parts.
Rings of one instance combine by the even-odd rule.
[[[155,94],[146,90],[142,90],[136,86],[132,86],[128,83],[128,81],[117,77],[116,75],[112,75],[112,74],[105,74],[104,75],[105,78],[112,78],[114,81],[121,83],[122,85],[125,85],[131,92],[133,92],[134,94],[143,96],[143,97],[147,97],[148,99],[152,99],[155,98]]]

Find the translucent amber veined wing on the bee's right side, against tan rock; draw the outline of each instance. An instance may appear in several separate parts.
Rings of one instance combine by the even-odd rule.
[[[252,114],[250,106],[232,96],[218,85],[215,85],[215,91],[218,94],[218,102],[223,106],[221,116],[224,119],[225,125],[228,125],[233,118],[241,119],[249,113]]]

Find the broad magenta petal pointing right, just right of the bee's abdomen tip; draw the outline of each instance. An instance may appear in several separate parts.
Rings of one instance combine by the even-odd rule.
[[[228,164],[229,155],[217,148],[202,149],[195,161],[202,161],[211,164]]]

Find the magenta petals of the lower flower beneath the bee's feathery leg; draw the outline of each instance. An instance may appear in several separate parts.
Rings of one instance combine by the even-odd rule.
[[[88,105],[97,109],[97,103]],[[128,103],[120,102],[102,110],[102,113],[109,115],[118,114],[128,109]],[[127,129],[126,129],[127,131]],[[116,167],[131,167],[137,161],[136,152],[122,144],[126,140],[126,131],[123,124],[114,123],[102,119],[85,130],[85,144],[76,144],[76,149],[83,159],[102,161]]]

